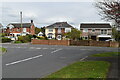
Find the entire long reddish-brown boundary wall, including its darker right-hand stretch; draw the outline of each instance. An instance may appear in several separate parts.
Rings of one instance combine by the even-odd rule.
[[[119,47],[118,42],[111,41],[73,41],[73,40],[38,40],[33,39],[32,44],[41,44],[41,45],[75,45],[75,46],[99,46],[99,47]]]

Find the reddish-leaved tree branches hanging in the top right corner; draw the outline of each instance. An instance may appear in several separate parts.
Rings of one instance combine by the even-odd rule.
[[[120,27],[120,0],[100,0],[96,3],[99,15],[102,19],[113,21],[116,27]]]

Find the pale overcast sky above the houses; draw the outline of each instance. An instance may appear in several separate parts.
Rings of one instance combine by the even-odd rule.
[[[94,2],[4,2],[1,7],[0,22],[4,26],[20,22],[20,11],[23,22],[33,20],[37,27],[67,21],[79,28],[82,22],[103,22]]]

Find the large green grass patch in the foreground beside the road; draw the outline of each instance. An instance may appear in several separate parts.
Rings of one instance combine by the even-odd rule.
[[[45,78],[106,78],[109,66],[106,61],[76,62]]]

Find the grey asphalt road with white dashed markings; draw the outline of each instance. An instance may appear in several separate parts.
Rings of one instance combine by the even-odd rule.
[[[91,54],[118,51],[118,48],[3,44],[3,78],[42,78]]]

